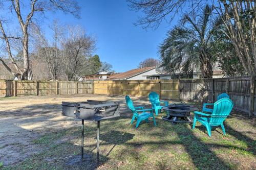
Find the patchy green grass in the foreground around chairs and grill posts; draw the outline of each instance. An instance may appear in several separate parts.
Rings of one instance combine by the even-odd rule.
[[[98,169],[256,168],[254,119],[233,115],[225,121],[227,135],[216,128],[212,137],[199,123],[192,130],[188,124],[172,125],[158,116],[157,127],[152,122],[142,123],[136,130],[130,120],[120,117],[101,123]],[[73,138],[60,142],[70,136]],[[43,148],[41,153],[2,169],[94,169],[96,124],[86,124],[84,136],[85,154],[93,158],[90,164],[66,164],[70,157],[80,155],[78,126],[34,139],[32,142]]]

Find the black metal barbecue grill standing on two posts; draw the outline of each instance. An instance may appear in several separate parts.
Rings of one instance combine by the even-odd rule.
[[[99,127],[100,121],[120,116],[118,102],[62,102],[62,115],[82,119],[81,158],[83,159],[84,120],[97,122],[97,164],[99,162]]]

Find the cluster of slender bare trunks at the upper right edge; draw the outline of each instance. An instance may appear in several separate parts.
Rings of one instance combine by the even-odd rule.
[[[216,9],[247,74],[256,75],[256,3],[222,1]]]

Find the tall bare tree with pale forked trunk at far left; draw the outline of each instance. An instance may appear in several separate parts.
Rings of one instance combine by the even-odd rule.
[[[4,67],[11,72],[12,75],[21,78],[22,80],[28,79],[28,71],[29,71],[29,33],[28,27],[32,22],[32,18],[35,13],[43,14],[45,11],[49,10],[61,10],[63,12],[69,12],[78,17],[79,13],[79,6],[75,0],[31,0],[30,3],[27,2],[20,2],[19,0],[11,0],[11,1],[1,1],[0,4],[2,8],[9,8],[10,13],[14,11],[15,18],[18,20],[20,25],[20,30],[22,31],[21,37],[14,37],[7,35],[6,29],[4,28],[5,19],[2,17],[0,18],[0,30],[2,35],[0,36],[2,39],[5,40],[6,50],[11,60],[12,64],[15,67],[15,70],[11,69],[2,58],[0,61],[4,65]],[[30,7],[29,9],[26,7]],[[29,11],[27,14],[25,11]],[[12,18],[13,19],[13,18]],[[21,39],[22,46],[23,46],[23,67],[19,67],[14,60],[10,39]]]

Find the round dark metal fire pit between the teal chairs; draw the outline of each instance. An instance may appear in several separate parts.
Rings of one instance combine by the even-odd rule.
[[[171,104],[168,107],[163,107],[163,110],[167,111],[168,115],[163,117],[163,120],[176,123],[193,123],[190,119],[190,112],[198,110],[196,107],[186,105],[185,102],[180,104]]]

